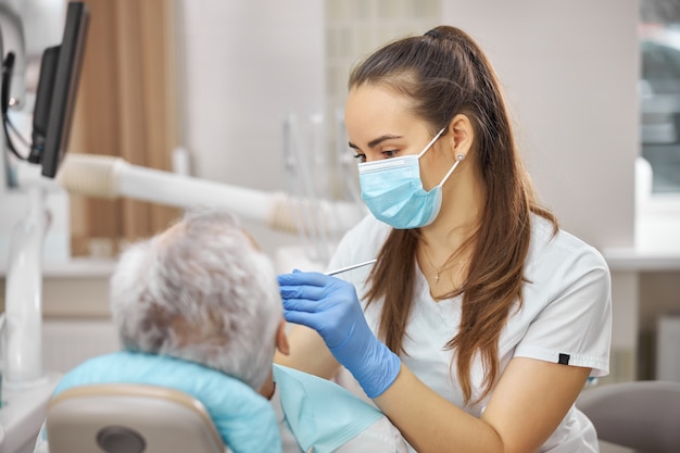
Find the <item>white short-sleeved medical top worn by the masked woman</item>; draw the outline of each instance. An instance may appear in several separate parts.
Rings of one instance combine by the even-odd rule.
[[[367,216],[341,240],[329,268],[376,257],[390,230],[388,225]],[[610,276],[602,255],[568,232],[561,230],[553,236],[552,224],[533,215],[525,264],[524,303],[512,312],[499,340],[500,373],[513,357],[521,356],[589,367],[592,377],[608,374]],[[463,393],[455,379],[455,362],[451,366],[452,351],[445,348],[457,332],[462,298],[436,302],[425,276],[417,265],[415,267],[415,299],[403,344],[407,355],[402,355],[401,360],[437,393],[480,416],[490,397],[463,407]],[[362,303],[365,303],[369,272],[369,267],[363,267],[339,275],[356,287]],[[368,325],[376,334],[380,306],[381,303],[373,303],[366,310]],[[476,401],[483,390],[479,360],[473,363],[470,377],[471,401]],[[357,386],[347,387],[355,393],[361,391]],[[366,398],[365,394],[362,397]],[[596,451],[593,425],[574,406],[540,450],[551,453]]]

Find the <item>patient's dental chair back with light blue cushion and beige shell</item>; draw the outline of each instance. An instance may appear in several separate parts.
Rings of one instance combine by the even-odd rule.
[[[65,374],[37,440],[50,453],[280,453],[269,402],[193,362],[119,351]],[[38,450],[42,451],[42,450]]]

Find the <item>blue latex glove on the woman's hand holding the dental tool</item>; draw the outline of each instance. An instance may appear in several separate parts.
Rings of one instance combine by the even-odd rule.
[[[286,319],[316,330],[368,398],[379,397],[394,382],[401,361],[370,331],[354,286],[303,272],[279,275],[278,282]]]

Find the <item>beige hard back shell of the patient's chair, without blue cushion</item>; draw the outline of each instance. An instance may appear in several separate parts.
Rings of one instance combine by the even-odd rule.
[[[108,383],[56,395],[46,419],[50,453],[225,453],[202,403],[178,390]]]

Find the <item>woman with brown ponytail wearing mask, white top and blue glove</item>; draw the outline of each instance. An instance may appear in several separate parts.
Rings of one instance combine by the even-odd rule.
[[[277,361],[344,366],[417,452],[596,452],[574,402],[608,373],[609,272],[538,204],[480,48],[440,26],[379,49],[349,86],[373,216],[330,267],[377,263],[280,275],[300,326]]]

